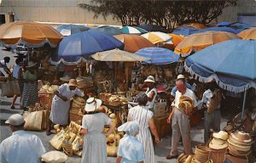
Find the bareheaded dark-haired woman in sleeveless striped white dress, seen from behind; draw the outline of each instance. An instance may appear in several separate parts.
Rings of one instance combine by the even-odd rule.
[[[154,135],[155,143],[160,142],[160,138],[154,125],[154,114],[152,111],[148,110],[148,107],[145,106],[148,103],[147,94],[139,94],[137,102],[139,105],[129,110],[127,121],[136,121],[139,124],[139,133],[137,134],[137,139],[142,142],[144,146],[144,162],[154,163],[154,145],[150,131]]]

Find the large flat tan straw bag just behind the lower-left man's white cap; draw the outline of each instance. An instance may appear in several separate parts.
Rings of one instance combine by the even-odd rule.
[[[32,131],[42,130],[43,110],[34,112],[24,112],[23,118],[26,121],[24,129]]]

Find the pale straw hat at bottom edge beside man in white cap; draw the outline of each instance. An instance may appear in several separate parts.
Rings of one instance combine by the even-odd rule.
[[[47,163],[63,163],[66,162],[68,157],[60,151],[50,151],[41,156],[42,161]]]

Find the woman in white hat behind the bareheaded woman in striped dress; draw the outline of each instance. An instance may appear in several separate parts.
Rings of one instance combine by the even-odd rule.
[[[154,86],[154,76],[148,76],[147,79],[144,81],[143,85],[140,87],[143,89],[144,87],[147,87],[146,94],[148,96],[148,103],[146,106],[148,106],[148,109],[153,111],[154,113],[154,101],[157,95],[156,87]]]

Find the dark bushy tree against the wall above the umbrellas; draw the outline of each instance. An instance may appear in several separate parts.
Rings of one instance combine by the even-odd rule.
[[[189,22],[210,23],[222,10],[236,5],[237,0],[91,0],[79,3],[81,8],[100,14],[106,19],[112,15],[122,25],[155,24],[172,29]]]

